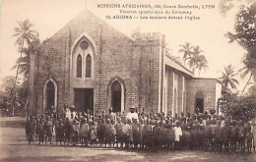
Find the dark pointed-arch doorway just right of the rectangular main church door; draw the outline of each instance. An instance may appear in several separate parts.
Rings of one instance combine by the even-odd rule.
[[[118,81],[114,81],[111,85],[111,107],[113,112],[121,112],[122,88]]]

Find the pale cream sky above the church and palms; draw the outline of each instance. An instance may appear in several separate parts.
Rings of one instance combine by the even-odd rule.
[[[224,17],[219,10],[220,0],[2,0],[0,17],[0,78],[15,75],[11,71],[20,56],[15,38],[12,37],[17,21],[29,19],[32,29],[39,32],[41,40],[49,38],[72,18],[88,9],[98,18],[130,35],[132,30],[140,27],[143,32],[160,31],[165,34],[167,48],[171,54],[178,53],[180,44],[190,42],[199,45],[209,61],[209,69],[202,71],[202,78],[220,78],[224,66],[232,64],[235,70],[242,67],[241,58],[245,51],[237,43],[228,43],[224,36],[226,31],[233,31],[235,13],[234,8]],[[166,20],[107,20],[106,15],[120,15],[120,9],[97,8],[96,4],[162,4],[162,5],[215,5],[211,10],[193,10],[193,14],[200,16],[199,21],[166,21]],[[242,2],[243,3],[243,0]],[[245,3],[245,2],[244,2]],[[130,10],[130,9],[127,9]],[[141,9],[136,9],[140,11]],[[146,10],[146,9],[144,9]],[[163,10],[164,11],[164,10]],[[196,77],[198,75],[196,74]],[[239,80],[239,76],[237,76]],[[239,80],[240,81],[240,80]],[[242,89],[246,79],[240,81],[238,89]]]

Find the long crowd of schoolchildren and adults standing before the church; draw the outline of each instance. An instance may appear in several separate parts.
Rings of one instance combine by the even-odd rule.
[[[205,149],[254,151],[255,121],[233,120],[224,116],[181,113],[138,112],[135,107],[125,114],[105,111],[76,112],[64,107],[65,113],[50,112],[27,119],[29,143],[82,145],[100,147],[159,149]]]

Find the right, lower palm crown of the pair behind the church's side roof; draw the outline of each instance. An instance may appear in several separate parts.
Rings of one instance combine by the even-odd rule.
[[[190,69],[192,69],[193,73],[195,72],[195,69],[199,67],[200,62],[205,59],[204,55],[200,55],[200,53],[202,52],[203,50],[201,50],[199,46],[196,46],[193,48],[193,52],[190,54],[190,57],[188,58],[188,65]]]

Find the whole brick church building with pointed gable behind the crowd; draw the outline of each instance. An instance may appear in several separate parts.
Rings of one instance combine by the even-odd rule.
[[[197,79],[166,54],[159,32],[133,39],[84,11],[31,56],[29,114],[64,104],[77,111],[136,106],[181,114],[216,109],[221,84]]]

